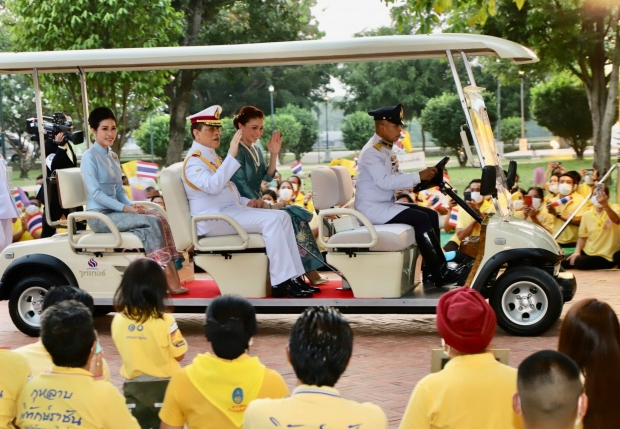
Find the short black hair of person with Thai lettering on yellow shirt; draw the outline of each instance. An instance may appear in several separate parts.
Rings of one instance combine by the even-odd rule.
[[[54,365],[83,367],[96,339],[93,317],[81,302],[59,302],[41,314],[41,342]]]

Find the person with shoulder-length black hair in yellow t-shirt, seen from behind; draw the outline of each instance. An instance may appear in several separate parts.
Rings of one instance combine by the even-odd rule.
[[[112,320],[112,339],[123,365],[123,392],[143,429],[159,428],[159,408],[170,377],[181,369],[187,343],[174,317],[166,313],[166,275],[152,259],[141,258],[127,267],[114,296],[118,314]]]

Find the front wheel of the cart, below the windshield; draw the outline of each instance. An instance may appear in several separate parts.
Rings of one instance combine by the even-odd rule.
[[[535,336],[560,318],[564,301],[560,286],[549,273],[537,267],[517,267],[497,279],[489,303],[504,331]]]

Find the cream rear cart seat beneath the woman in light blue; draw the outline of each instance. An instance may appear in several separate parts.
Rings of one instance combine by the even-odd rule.
[[[86,186],[79,168],[56,170],[60,205],[63,208],[80,207],[86,205]],[[158,210],[166,216],[166,212],[157,204],[140,202],[149,209]],[[75,221],[84,219],[99,219],[110,230],[108,233],[93,231],[75,231]],[[84,211],[71,213],[67,218],[67,232],[69,244],[73,249],[88,252],[113,252],[115,249],[138,249],[144,245],[131,232],[120,232],[114,222],[103,213]]]

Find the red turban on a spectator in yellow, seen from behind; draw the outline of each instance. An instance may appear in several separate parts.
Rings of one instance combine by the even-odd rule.
[[[497,319],[480,292],[463,286],[437,304],[437,330],[447,345],[461,353],[480,353],[493,339]]]

